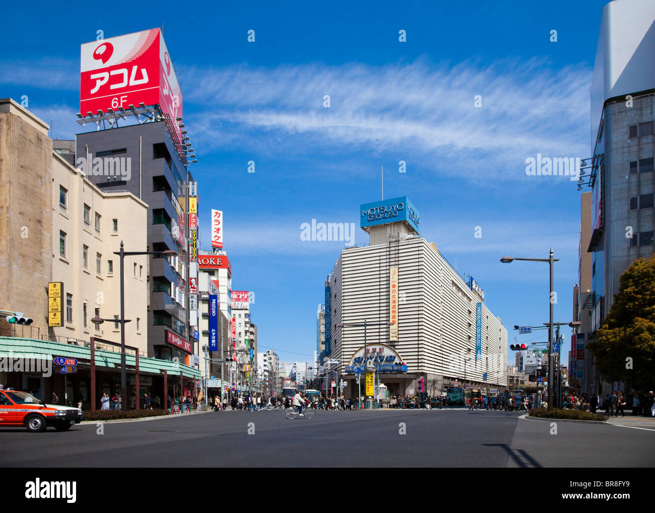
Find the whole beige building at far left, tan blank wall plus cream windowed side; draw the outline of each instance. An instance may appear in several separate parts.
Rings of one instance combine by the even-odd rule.
[[[128,192],[102,192],[53,150],[48,126],[0,99],[0,309],[33,319],[0,323],[0,334],[59,342],[90,337],[120,343],[121,240],[146,251],[147,205]],[[126,344],[147,352],[146,257],[125,258]],[[48,283],[62,282],[62,327],[48,328]],[[102,349],[102,348],[101,348]],[[111,349],[111,345],[107,345]]]

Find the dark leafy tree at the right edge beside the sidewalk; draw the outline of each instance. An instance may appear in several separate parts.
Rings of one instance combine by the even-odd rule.
[[[655,254],[621,275],[614,304],[588,348],[605,380],[631,379],[637,389],[655,382]]]

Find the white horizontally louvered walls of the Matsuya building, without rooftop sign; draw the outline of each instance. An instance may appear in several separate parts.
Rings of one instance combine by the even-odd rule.
[[[507,384],[507,330],[482,305],[481,355],[476,359],[477,295],[434,244],[407,238],[341,252],[331,275],[331,358],[343,374],[364,345],[364,327],[344,323],[388,323],[390,267],[398,267],[398,342],[389,326],[367,326],[367,345],[388,344],[407,364],[407,374],[381,374],[391,395],[415,395],[417,380],[437,380],[431,392],[466,383],[487,393]],[[486,380],[483,374],[487,374]],[[345,375],[345,379],[354,376]],[[430,391],[430,390],[427,390]],[[346,389],[354,396],[356,387]]]

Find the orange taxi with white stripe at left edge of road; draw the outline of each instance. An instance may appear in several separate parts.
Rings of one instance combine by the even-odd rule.
[[[46,404],[27,392],[0,390],[0,427],[24,426],[32,433],[41,433],[48,426],[66,431],[81,421],[79,408]]]

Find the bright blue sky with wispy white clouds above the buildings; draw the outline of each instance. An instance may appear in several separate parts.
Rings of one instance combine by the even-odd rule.
[[[358,207],[380,199],[381,166],[384,197],[411,200],[422,235],[475,277],[514,343],[515,324],[548,320],[548,266],[500,264],[504,255],[546,258],[553,247],[561,259],[555,321],[571,321],[580,193],[570,177],[527,176],[525,160],[589,156],[589,84],[605,3],[187,2],[181,9],[164,1],[140,3],[139,13],[123,2],[10,3],[7,19],[25,20],[29,31],[5,24],[0,35],[0,97],[27,95],[54,137],[73,138],[82,131],[80,44],[98,29],[106,38],[163,26],[198,156],[191,169],[202,241],[209,242],[210,209],[222,209],[233,289],[255,292],[260,350],[312,360],[316,306],[344,243],[302,241],[300,225],[354,222],[355,242],[367,241]],[[569,328],[565,334],[570,340]]]

